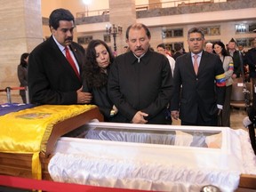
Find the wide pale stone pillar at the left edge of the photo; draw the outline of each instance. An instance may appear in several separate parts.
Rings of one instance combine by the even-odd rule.
[[[20,55],[43,42],[41,0],[0,0],[0,89],[18,87]],[[0,92],[0,103],[6,94]],[[12,102],[21,102],[19,91],[12,91]]]

